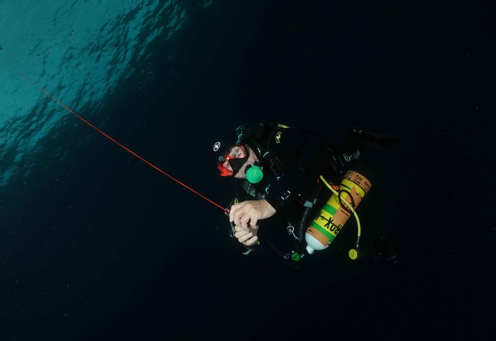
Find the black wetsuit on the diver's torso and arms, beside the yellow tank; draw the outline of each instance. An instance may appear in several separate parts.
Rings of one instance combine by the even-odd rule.
[[[361,137],[351,132],[348,143],[337,151],[312,132],[285,128],[277,124],[247,127],[244,135],[246,136],[243,143],[248,144],[256,153],[264,177],[257,184],[249,184],[247,180],[237,181],[237,199],[242,202],[263,198],[276,209],[277,213],[270,219],[270,227],[263,226],[259,230],[261,242],[263,242],[262,234],[272,231],[269,239],[271,242],[274,241],[274,244],[281,245],[275,240],[281,239],[277,238],[281,234],[288,236],[283,238],[289,238],[294,243],[295,240],[286,227],[294,226],[294,233],[298,235],[305,202],[313,201],[312,194],[318,186],[318,177],[323,175],[327,181],[339,184],[348,164],[360,157]],[[322,192],[320,200],[325,202],[331,192],[327,188],[320,192]],[[315,207],[315,209],[319,208]],[[313,218],[309,214],[307,221]],[[286,244],[287,248],[287,240],[283,244]],[[281,250],[283,248],[284,246]]]

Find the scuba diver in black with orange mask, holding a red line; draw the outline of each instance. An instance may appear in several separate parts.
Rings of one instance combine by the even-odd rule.
[[[213,146],[217,170],[223,177],[239,179],[236,181],[236,198],[231,202],[229,220],[231,236],[245,245],[245,254],[264,249],[259,241],[259,234],[262,232],[259,232],[258,221],[274,219],[271,218],[274,216],[281,222],[263,227],[268,229],[266,235],[273,234],[273,237],[280,234],[280,225],[285,225],[293,245],[285,247],[292,250],[291,253],[282,252],[282,248],[277,247],[270,237],[266,238],[269,241],[265,245],[282,257],[286,265],[299,267],[299,261],[304,256],[303,229],[308,227],[308,218],[318,213],[315,209],[319,205],[315,203],[329,196],[328,191],[322,191],[324,182],[328,187],[334,186],[336,190],[340,190],[337,185],[351,165],[359,164],[364,143],[378,149],[389,149],[394,145],[395,139],[353,128],[348,134],[347,143],[338,151],[330,148],[322,138],[310,131],[267,123],[241,125],[236,129],[236,134],[217,138]],[[359,169],[364,169],[364,166],[359,166]],[[369,177],[372,179],[372,176]],[[362,193],[363,195],[365,194]],[[347,211],[344,213],[349,213],[349,216],[352,210],[349,206],[356,207],[359,202],[346,205],[341,196],[339,201]],[[314,249],[326,248],[327,242],[330,243],[342,227],[331,224],[334,221],[323,211],[318,215],[322,219],[324,216],[327,217],[327,223],[322,225],[329,227],[330,230],[327,231],[331,231],[333,236],[320,229],[331,240],[325,239],[325,236],[321,238],[318,231],[309,237],[307,230],[306,249],[310,254]],[[319,224],[313,225],[319,228]],[[336,231],[332,233],[334,227]],[[321,248],[313,240],[314,237],[322,243]],[[317,248],[314,248],[315,243]]]

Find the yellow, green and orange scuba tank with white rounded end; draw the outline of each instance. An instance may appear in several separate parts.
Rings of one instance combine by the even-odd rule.
[[[312,254],[315,250],[323,250],[332,243],[371,189],[374,176],[375,173],[361,163],[354,164],[345,173],[339,188],[336,186],[329,200],[327,200],[320,213],[307,228],[305,240],[307,241],[307,251],[309,254]],[[322,177],[321,179],[325,181]],[[357,220],[357,222],[359,221]],[[360,255],[358,251],[361,233],[359,223],[358,229],[355,249],[351,249],[349,252],[349,257],[353,260],[357,259]]]

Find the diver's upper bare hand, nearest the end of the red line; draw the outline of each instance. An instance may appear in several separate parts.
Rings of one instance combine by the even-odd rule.
[[[229,221],[234,225],[255,226],[259,219],[272,217],[276,210],[265,200],[247,200],[231,206]]]

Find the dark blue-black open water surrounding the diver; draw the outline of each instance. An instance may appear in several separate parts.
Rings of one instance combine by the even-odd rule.
[[[0,81],[3,91],[15,84],[15,96],[37,99],[32,109],[11,106],[9,114],[27,117],[22,125],[12,128],[14,116],[0,127],[0,339],[491,335],[493,2],[172,2],[185,8],[181,26],[146,40],[145,29],[170,27],[168,17],[154,17],[154,27],[136,34],[141,52],[102,37],[84,52],[131,56],[93,66],[103,75],[126,70],[98,101],[85,101],[91,75],[74,77],[43,59],[67,45],[20,64],[0,32],[1,75],[11,80]],[[171,1],[141,7],[148,5],[153,14]],[[127,18],[115,30],[126,33]],[[30,50],[37,41],[24,44]],[[398,263],[374,262],[372,253],[348,260],[353,221],[298,270],[242,255],[219,208],[52,103],[7,59],[55,97],[62,81],[84,81],[65,96],[68,107],[222,206],[233,184],[216,176],[210,149],[216,135],[243,122],[313,129],[335,146],[353,126],[399,136],[390,153],[366,146],[363,162],[378,176],[358,209],[362,246],[387,233]],[[47,115],[62,118],[34,142]],[[36,146],[22,162],[12,152],[20,143]]]

